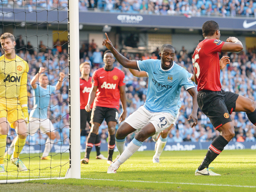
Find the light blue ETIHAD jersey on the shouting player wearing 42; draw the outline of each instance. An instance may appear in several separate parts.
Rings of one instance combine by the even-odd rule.
[[[139,71],[148,72],[148,92],[144,107],[151,112],[166,112],[177,116],[180,90],[195,87],[186,69],[173,62],[170,69],[161,67],[161,60],[137,61]]]

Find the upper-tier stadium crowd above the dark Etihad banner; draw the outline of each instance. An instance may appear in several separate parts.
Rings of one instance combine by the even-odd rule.
[[[16,8],[26,6],[28,10],[35,8],[62,10],[67,9],[68,0],[18,0],[1,1],[0,4]],[[256,17],[255,0],[79,0],[79,9],[158,15]]]

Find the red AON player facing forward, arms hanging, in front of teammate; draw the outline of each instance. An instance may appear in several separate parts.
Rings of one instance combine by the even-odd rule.
[[[114,68],[114,55],[110,51],[104,53],[103,59],[105,66],[94,71],[92,75],[92,90],[89,94],[89,100],[85,107],[87,112],[92,111],[91,123],[92,128],[86,141],[86,149],[82,164],[88,164],[89,156],[93,144],[95,143],[96,134],[99,126],[105,119],[108,124],[108,160],[112,163],[112,156],[115,148],[115,132],[118,121],[119,100],[122,102],[123,113],[120,115],[119,123],[126,117],[126,95],[124,72]],[[91,109],[92,102],[93,108]]]

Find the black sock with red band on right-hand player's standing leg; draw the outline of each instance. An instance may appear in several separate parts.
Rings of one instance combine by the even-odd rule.
[[[208,168],[209,164],[212,163],[212,161],[221,153],[227,144],[228,141],[225,140],[225,138],[221,135],[216,137],[215,140],[212,141],[212,144],[210,145],[203,162],[198,167],[198,170],[201,171],[204,168]]]

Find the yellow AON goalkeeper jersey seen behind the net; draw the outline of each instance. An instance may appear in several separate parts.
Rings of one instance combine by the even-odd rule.
[[[28,103],[28,63],[19,56],[12,60],[0,57],[0,103],[7,110]]]

